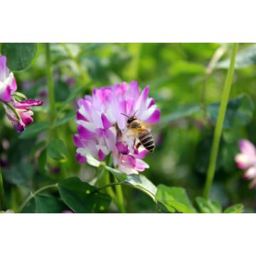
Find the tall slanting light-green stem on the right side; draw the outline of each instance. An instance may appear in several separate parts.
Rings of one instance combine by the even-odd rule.
[[[218,120],[214,131],[213,144],[210,151],[210,162],[208,166],[207,176],[206,176],[206,185],[204,188],[203,196],[208,199],[210,188],[213,183],[213,177],[215,174],[216,161],[218,157],[218,149],[220,145],[220,137],[223,129],[223,122],[225,119],[225,112],[228,105],[228,98],[230,95],[230,90],[232,86],[233,74],[235,69],[235,56],[238,51],[238,43],[233,43],[233,50],[230,58],[230,67],[228,68],[228,74],[225,79],[225,85],[223,88],[222,100],[220,102],[220,110],[218,113]]]

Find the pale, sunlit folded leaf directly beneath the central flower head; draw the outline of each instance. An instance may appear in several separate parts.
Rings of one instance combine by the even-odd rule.
[[[154,186],[148,178],[146,178],[142,174],[132,174],[128,175],[125,179],[125,182],[128,183],[130,186],[143,191],[148,196],[150,196],[155,201],[156,195],[156,186]]]

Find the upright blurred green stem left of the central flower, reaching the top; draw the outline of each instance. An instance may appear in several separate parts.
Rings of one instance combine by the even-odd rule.
[[[51,123],[55,120],[56,107],[55,107],[55,92],[54,92],[54,84],[53,84],[53,66],[50,60],[50,44],[45,43],[46,47],[46,77],[47,77],[47,85],[48,85],[48,99],[50,105],[50,121]]]

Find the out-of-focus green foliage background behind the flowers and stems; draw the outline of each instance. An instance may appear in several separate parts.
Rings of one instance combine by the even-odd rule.
[[[230,55],[228,44],[52,43],[50,49],[58,108],[55,122],[49,123],[46,60],[41,43],[28,68],[14,73],[20,92],[46,102],[34,110],[34,124],[18,135],[6,119],[3,108],[0,109],[0,157],[8,208],[17,210],[29,191],[60,182],[63,178],[79,176],[82,181],[92,180],[95,169],[88,165],[80,166],[75,159],[72,138],[76,132],[75,100],[90,94],[92,87],[137,80],[141,88],[150,85],[150,96],[156,99],[161,109],[161,122],[153,129],[156,150],[146,156],[150,169],[144,171],[144,176],[156,186],[161,183],[186,188],[191,199],[189,207],[197,205],[201,212],[220,212],[221,208],[235,203],[242,203],[245,212],[256,211],[256,191],[248,188],[248,181],[242,178],[242,171],[234,162],[239,139],[248,138],[256,143],[254,44],[240,44],[238,69],[235,70],[210,192],[212,201],[209,202],[195,198],[203,192]],[[214,60],[218,49],[223,52],[209,69],[210,60]],[[61,142],[52,142],[46,149],[46,130],[50,127],[55,127]],[[56,147],[60,148],[58,154],[54,151]],[[183,191],[177,193],[179,195]],[[159,210],[151,198],[126,186],[124,198],[128,212]],[[63,203],[52,196],[41,196],[35,202],[31,201],[31,209],[41,212],[56,200],[58,206],[55,204],[52,212],[63,210]],[[233,208],[239,211],[241,206]],[[28,208],[24,209],[26,211]],[[111,205],[110,211],[115,211]]]

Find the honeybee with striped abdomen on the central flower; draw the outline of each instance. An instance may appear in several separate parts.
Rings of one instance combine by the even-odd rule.
[[[134,112],[134,114],[132,114],[132,116],[130,117],[127,116],[127,114],[123,114],[124,116],[128,117],[127,128],[129,129],[129,131],[132,132],[132,134],[134,134],[134,137],[135,137],[134,144],[135,144],[136,138],[139,139],[139,144],[137,144],[137,149],[139,149],[139,146],[142,145],[147,151],[152,153],[155,148],[154,138],[151,132],[149,132],[149,129],[146,127],[146,124],[144,124],[144,122],[140,121],[135,116],[136,113],[137,111]]]

